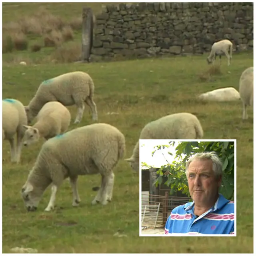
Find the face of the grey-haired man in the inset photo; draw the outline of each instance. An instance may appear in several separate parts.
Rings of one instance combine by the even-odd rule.
[[[208,206],[218,194],[221,177],[216,178],[212,160],[193,160],[188,166],[188,188],[195,204]]]

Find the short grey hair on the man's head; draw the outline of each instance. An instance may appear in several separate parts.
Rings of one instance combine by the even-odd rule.
[[[202,152],[202,153],[196,153],[193,156],[191,156],[186,163],[186,176],[188,176],[188,166],[193,160],[204,160],[204,159],[210,159],[212,160],[212,170],[216,177],[220,177],[222,175],[222,162],[218,155],[215,152]]]

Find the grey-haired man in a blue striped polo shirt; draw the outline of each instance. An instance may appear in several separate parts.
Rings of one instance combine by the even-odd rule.
[[[193,202],[172,210],[165,234],[234,234],[234,202],[218,193],[222,162],[215,152],[197,153],[186,163]]]

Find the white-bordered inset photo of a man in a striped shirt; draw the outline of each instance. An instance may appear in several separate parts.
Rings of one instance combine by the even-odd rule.
[[[140,236],[236,236],[236,140],[140,140]]]

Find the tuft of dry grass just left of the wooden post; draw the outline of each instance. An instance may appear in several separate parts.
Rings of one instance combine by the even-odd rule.
[[[58,63],[69,63],[78,61],[81,57],[81,44],[72,42],[58,47],[50,56],[52,60]]]

